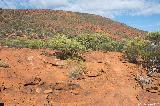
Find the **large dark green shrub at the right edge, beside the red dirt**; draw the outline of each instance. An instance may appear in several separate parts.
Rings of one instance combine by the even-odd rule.
[[[129,40],[124,47],[125,57],[132,63],[141,63],[150,71],[160,66],[160,32],[149,33],[145,39]]]

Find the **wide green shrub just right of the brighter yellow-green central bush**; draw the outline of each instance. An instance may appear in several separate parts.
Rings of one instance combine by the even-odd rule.
[[[111,38],[101,34],[82,34],[76,37],[87,49],[103,51],[120,51],[123,46]]]

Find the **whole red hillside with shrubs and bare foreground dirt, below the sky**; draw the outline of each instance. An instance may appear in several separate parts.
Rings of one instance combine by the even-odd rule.
[[[0,103],[159,106],[160,32],[146,33],[93,14],[1,9]]]

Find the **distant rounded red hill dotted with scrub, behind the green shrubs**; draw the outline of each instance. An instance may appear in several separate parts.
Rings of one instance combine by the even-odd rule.
[[[98,15],[62,10],[0,10],[0,36],[34,35],[51,37],[57,33],[75,36],[103,33],[115,39],[143,36],[146,32]]]

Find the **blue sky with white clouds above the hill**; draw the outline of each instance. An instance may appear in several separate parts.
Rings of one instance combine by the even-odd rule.
[[[145,31],[160,31],[160,0],[0,0],[0,7],[92,13]]]

